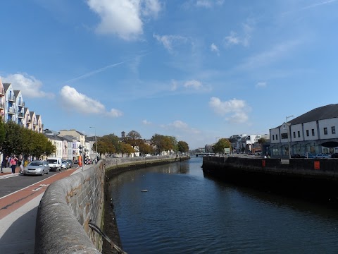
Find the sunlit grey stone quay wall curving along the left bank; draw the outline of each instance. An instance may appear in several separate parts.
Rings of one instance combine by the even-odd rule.
[[[89,222],[92,222],[106,231],[111,223],[111,217],[106,216],[112,210],[107,193],[109,177],[131,169],[183,159],[189,157],[168,155],[101,159],[85,171],[52,183],[37,211],[35,253],[101,253],[104,248],[111,248],[109,245],[104,247],[107,242],[89,228]],[[119,236],[106,235],[119,240]],[[111,248],[110,253],[115,253],[115,250]]]

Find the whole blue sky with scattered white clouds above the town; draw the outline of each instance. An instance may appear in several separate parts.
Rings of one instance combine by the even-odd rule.
[[[337,0],[3,1],[0,76],[45,128],[194,149],[336,104],[337,24]]]

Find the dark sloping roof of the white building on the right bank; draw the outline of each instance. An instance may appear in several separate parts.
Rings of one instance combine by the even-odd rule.
[[[288,123],[294,125],[317,120],[333,119],[336,117],[338,117],[338,104],[329,104],[323,107],[312,109],[311,111],[308,111],[305,114],[288,121]]]

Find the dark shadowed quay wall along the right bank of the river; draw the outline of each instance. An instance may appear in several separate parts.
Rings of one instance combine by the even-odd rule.
[[[202,167],[215,180],[338,205],[338,159],[204,157]]]

